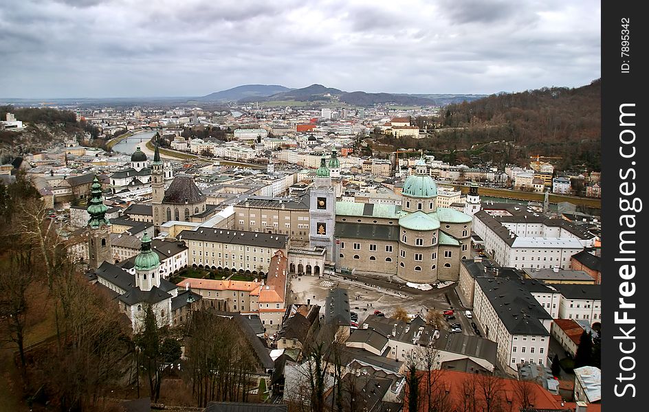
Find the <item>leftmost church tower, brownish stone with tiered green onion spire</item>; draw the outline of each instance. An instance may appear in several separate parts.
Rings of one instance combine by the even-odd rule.
[[[108,207],[102,201],[102,190],[97,176],[90,187],[88,206],[88,254],[90,267],[98,268],[103,262],[111,262],[111,223],[106,218]]]

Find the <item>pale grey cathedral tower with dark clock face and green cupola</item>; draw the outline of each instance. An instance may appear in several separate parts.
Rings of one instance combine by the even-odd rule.
[[[325,247],[325,260],[333,262],[333,228],[335,224],[336,196],[331,186],[327,159],[320,159],[316,181],[311,188],[309,207],[309,242],[311,247]]]

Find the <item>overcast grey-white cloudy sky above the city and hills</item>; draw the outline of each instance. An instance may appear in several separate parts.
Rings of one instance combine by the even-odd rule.
[[[601,76],[600,10],[594,0],[5,0],[0,96],[579,87]]]

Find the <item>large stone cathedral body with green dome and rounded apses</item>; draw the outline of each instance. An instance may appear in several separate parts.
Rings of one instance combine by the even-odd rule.
[[[470,257],[471,216],[437,207],[423,159],[401,191],[403,207],[336,203],[338,268],[397,275],[409,282],[457,280]]]

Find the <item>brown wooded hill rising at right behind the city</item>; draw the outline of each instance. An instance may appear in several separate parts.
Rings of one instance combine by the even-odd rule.
[[[599,170],[601,92],[602,80],[597,79],[575,89],[544,87],[491,95],[446,106],[441,123],[467,127],[461,139],[465,145],[506,140],[514,144],[518,160],[535,155],[561,157],[560,168],[584,165]]]

